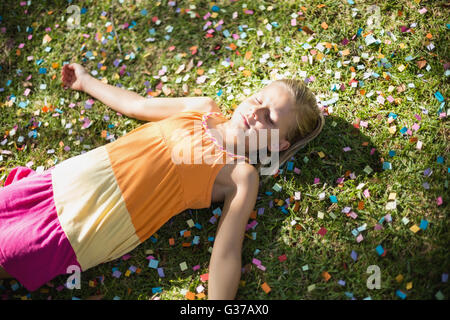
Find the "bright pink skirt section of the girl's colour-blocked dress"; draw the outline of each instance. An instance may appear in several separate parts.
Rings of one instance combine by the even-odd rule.
[[[0,188],[0,266],[29,291],[80,267],[58,220],[52,169],[16,167]]]

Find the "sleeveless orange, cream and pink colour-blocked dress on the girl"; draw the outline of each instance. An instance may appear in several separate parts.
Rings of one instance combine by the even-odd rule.
[[[0,188],[0,266],[34,291],[71,265],[123,256],[186,209],[210,207],[217,174],[235,159],[205,134],[203,114],[148,122],[40,174],[14,168]]]

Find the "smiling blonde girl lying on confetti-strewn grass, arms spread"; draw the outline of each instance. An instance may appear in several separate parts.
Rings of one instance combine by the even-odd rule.
[[[0,278],[14,277],[34,291],[71,265],[84,271],[121,257],[188,208],[223,202],[208,298],[233,299],[259,187],[260,164],[250,164],[249,154],[261,148],[279,152],[282,166],[321,132],[324,118],[311,91],[301,81],[274,81],[228,120],[211,98],[146,99],[91,77],[76,63],[63,67],[62,82],[149,122],[40,174],[27,167],[10,172],[0,189]],[[208,163],[173,161],[185,141],[175,136],[179,129],[190,138],[188,150],[203,146]],[[269,129],[278,130],[275,144]],[[269,130],[265,144],[259,139],[263,130]],[[258,150],[239,139],[241,132],[261,140]]]

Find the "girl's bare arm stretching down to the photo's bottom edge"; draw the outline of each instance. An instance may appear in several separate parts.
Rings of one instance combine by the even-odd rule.
[[[209,264],[208,299],[234,299],[241,278],[242,242],[258,194],[259,177],[251,165],[237,165],[236,183],[224,201]]]

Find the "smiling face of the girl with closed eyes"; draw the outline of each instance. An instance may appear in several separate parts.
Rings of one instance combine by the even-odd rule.
[[[294,115],[294,98],[291,93],[282,84],[272,83],[242,101],[234,110],[230,122],[236,132],[245,133],[247,152],[256,151],[253,144],[250,144],[251,137],[256,137],[256,149],[283,151],[290,146],[286,135],[289,128],[296,125]],[[262,129],[266,129],[267,138],[262,134]],[[278,130],[279,137],[275,148],[271,147],[272,137],[276,139],[273,130]]]

